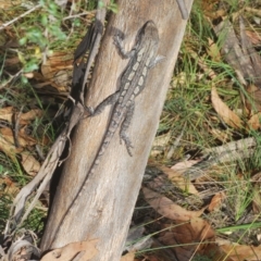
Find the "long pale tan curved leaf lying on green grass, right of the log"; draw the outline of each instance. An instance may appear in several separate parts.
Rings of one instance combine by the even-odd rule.
[[[241,120],[240,117],[234,113],[219,97],[215,87],[211,89],[211,100],[213,108],[220,117],[231,127],[241,128]]]

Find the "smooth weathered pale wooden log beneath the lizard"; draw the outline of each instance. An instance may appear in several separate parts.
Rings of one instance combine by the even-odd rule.
[[[185,1],[188,10],[191,3],[192,0]],[[175,0],[120,0],[117,4],[119,13],[112,14],[107,25],[86,104],[96,108],[119,88],[128,60],[123,60],[113,45],[115,29],[125,34],[124,44],[130,49],[138,29],[153,20],[160,35],[159,54],[165,59],[150,70],[144,91],[135,99],[127,130],[134,145],[133,157],[120,144],[117,130],[73,214],[62,222],[95,160],[113,108],[83,120],[76,127],[41,241],[41,249],[49,250],[97,238],[98,254],[91,259],[97,261],[120,260],[186,26]]]

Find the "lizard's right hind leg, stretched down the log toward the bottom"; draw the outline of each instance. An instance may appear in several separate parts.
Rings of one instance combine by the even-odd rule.
[[[127,137],[126,130],[128,129],[128,126],[132,122],[132,119],[134,115],[134,109],[135,109],[135,104],[134,104],[134,102],[132,102],[130,105],[127,108],[126,115],[124,117],[124,121],[123,121],[123,123],[121,125],[121,129],[120,129],[120,138],[125,142],[127,152],[130,157],[133,156],[130,148],[134,148],[134,147],[132,145],[130,139]]]

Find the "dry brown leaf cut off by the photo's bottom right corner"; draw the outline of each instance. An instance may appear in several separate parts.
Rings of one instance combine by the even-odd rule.
[[[261,246],[223,245],[220,248],[232,261],[253,261],[261,259]]]

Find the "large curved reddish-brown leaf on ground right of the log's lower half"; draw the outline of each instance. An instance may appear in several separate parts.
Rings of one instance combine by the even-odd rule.
[[[204,209],[198,211],[189,211],[175,204],[166,197],[162,197],[160,194],[154,192],[146,187],[142,188],[146,201],[161,215],[179,221],[188,221],[192,217],[200,216]]]

